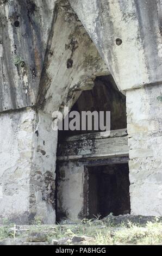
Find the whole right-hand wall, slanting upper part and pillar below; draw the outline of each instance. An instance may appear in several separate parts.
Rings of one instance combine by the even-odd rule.
[[[117,87],[128,91],[132,214],[161,215],[161,0],[70,3]]]

